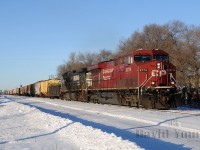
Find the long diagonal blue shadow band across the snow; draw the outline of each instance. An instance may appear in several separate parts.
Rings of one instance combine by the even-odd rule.
[[[155,149],[165,149],[165,150],[183,149],[183,150],[188,150],[188,149],[190,149],[190,148],[183,147],[182,144],[180,144],[180,145],[173,144],[173,143],[170,143],[170,142],[162,141],[160,139],[155,139],[153,137],[140,138],[140,135],[138,135],[136,133],[129,132],[129,131],[127,131],[127,129],[118,129],[118,128],[113,127],[113,126],[107,126],[107,125],[104,125],[104,124],[84,120],[84,119],[78,118],[76,116],[67,114],[67,113],[62,113],[62,112],[59,112],[59,111],[56,111],[56,110],[51,110],[51,109],[46,109],[46,108],[43,108],[43,107],[40,107],[40,106],[36,106],[33,103],[19,102],[15,99],[11,99],[11,100],[16,101],[20,104],[35,107],[42,112],[45,112],[45,113],[48,113],[48,114],[51,114],[51,115],[54,115],[54,116],[59,116],[59,117],[62,117],[62,118],[70,119],[73,122],[80,122],[81,124],[83,124],[85,126],[91,126],[93,128],[100,129],[101,131],[109,133],[109,134],[114,133],[116,136],[121,137],[123,140],[128,140],[128,141],[134,142],[138,146],[140,146],[144,149],[148,149],[148,150],[155,150]],[[22,99],[20,99],[20,100],[22,100]],[[163,122],[161,122],[161,123],[163,123]],[[161,123],[159,123],[159,124],[161,124]],[[58,129],[58,130],[60,130],[60,129]],[[39,135],[39,136],[46,136],[46,135],[53,134],[53,133],[56,133],[56,132],[57,132],[57,130],[52,132],[52,133],[43,134],[43,135]],[[18,140],[36,138],[36,137],[39,137],[39,136],[32,136],[32,137],[22,138],[22,139],[18,139]],[[4,143],[5,142],[2,142],[0,144],[4,144]]]

